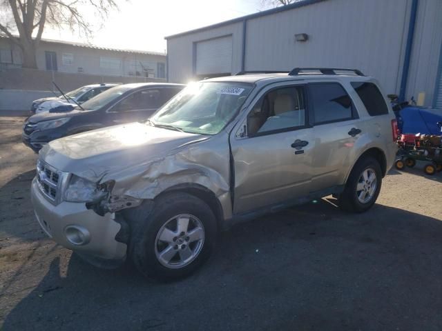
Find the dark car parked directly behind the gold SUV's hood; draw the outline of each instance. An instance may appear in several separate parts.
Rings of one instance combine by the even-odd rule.
[[[70,112],[41,112],[26,119],[22,140],[38,152],[49,141],[71,134],[142,121],[184,88],[181,84],[133,83],[116,86]]]

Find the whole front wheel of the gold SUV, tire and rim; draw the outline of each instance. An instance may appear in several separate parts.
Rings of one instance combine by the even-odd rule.
[[[153,203],[128,209],[129,255],[147,277],[172,281],[189,276],[206,261],[218,232],[207,203],[186,192],[164,193]]]

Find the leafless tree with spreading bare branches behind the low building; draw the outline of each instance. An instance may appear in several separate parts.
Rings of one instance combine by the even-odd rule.
[[[69,28],[89,37],[92,23],[81,9],[93,8],[100,20],[117,9],[118,0],[0,0],[0,35],[23,53],[23,68],[37,68],[35,52],[45,26]],[[18,34],[18,37],[17,37]]]

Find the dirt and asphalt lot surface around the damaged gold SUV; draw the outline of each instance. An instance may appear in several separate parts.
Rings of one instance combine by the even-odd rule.
[[[0,118],[0,330],[442,330],[442,177],[391,170],[378,203],[310,203],[220,236],[171,284],[99,270],[46,239],[22,118]]]

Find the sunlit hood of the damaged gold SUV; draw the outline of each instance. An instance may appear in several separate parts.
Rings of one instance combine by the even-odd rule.
[[[130,177],[148,163],[206,139],[201,134],[130,123],[51,141],[40,157],[58,170],[96,182],[104,177]]]

